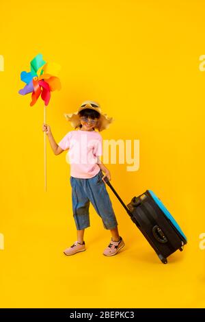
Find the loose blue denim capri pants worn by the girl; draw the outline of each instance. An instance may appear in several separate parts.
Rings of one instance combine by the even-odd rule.
[[[101,217],[106,230],[111,230],[118,225],[102,177],[101,170],[97,175],[89,179],[70,177],[70,184],[72,186],[72,211],[77,230],[84,230],[90,227],[90,202]]]

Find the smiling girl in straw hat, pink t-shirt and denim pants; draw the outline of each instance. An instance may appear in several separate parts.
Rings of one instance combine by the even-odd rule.
[[[65,116],[75,130],[68,132],[58,144],[53,138],[51,127],[47,124],[42,127],[55,156],[69,149],[72,210],[77,227],[77,241],[65,249],[64,253],[70,256],[85,251],[83,236],[85,228],[90,227],[91,202],[105,229],[111,232],[111,242],[103,254],[113,256],[124,247],[124,241],[118,233],[118,222],[104,182],[105,177],[111,179],[111,174],[100,160],[102,136],[99,133],[108,127],[112,119],[107,114],[102,114],[99,104],[94,101],[84,101],[77,112]]]

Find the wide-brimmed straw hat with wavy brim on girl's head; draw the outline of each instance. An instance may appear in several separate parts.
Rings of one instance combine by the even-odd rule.
[[[94,110],[100,114],[100,119],[98,119],[98,124],[96,126],[98,128],[98,131],[107,129],[107,127],[109,127],[109,124],[113,122],[112,117],[108,117],[107,114],[102,114],[100,105],[96,101],[83,101],[77,112],[71,114],[64,114],[64,116],[66,116],[66,119],[70,121],[71,125],[74,128],[79,127],[79,125],[81,125],[79,112],[81,110],[85,110],[85,108],[89,108],[90,110]]]

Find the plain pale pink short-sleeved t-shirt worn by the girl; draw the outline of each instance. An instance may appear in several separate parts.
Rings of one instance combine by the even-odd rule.
[[[98,156],[102,156],[102,136],[96,131],[68,132],[58,143],[63,150],[68,150],[70,175],[87,179],[94,177],[100,167]]]

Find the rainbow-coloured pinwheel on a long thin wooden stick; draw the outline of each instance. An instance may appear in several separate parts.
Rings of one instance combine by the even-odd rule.
[[[30,63],[31,71],[20,73],[20,79],[25,82],[25,87],[19,90],[20,95],[31,94],[30,106],[33,106],[41,95],[44,101],[44,123],[46,123],[46,106],[51,99],[51,92],[61,89],[61,83],[57,75],[61,67],[55,63],[46,63],[42,54],[36,55]],[[44,179],[46,191],[46,132],[44,132]]]

